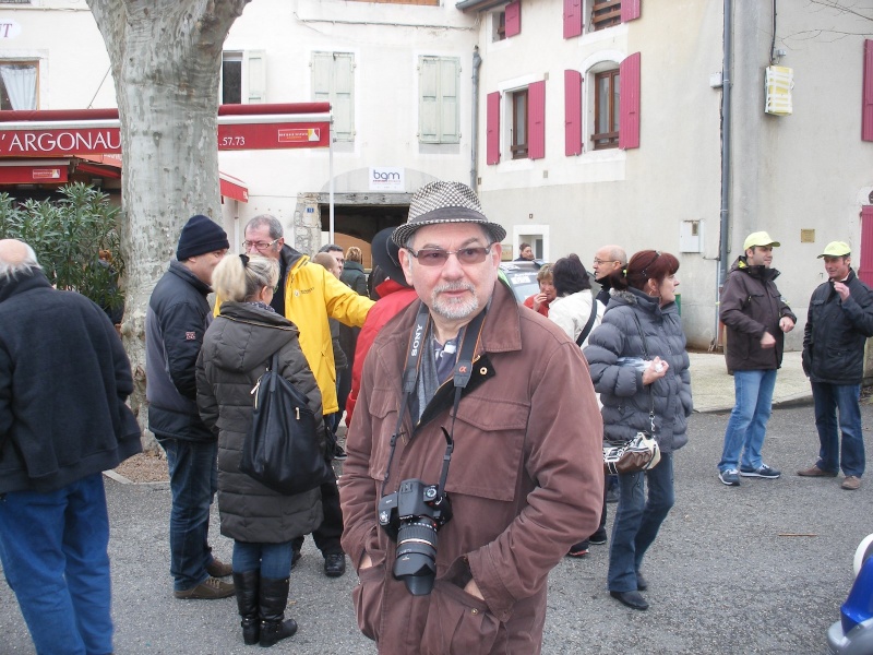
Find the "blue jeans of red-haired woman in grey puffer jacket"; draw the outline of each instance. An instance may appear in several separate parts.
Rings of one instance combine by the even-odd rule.
[[[648,499],[643,489],[648,481]],[[658,536],[661,523],[673,507],[673,454],[646,473],[619,475],[619,508],[612,524],[607,586],[611,592],[636,590],[636,572],[643,556]]]

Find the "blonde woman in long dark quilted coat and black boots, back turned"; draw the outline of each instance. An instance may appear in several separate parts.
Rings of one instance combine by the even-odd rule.
[[[307,395],[323,446],[322,403],[298,343],[297,327],[270,307],[279,271],[275,260],[228,255],[213,274],[225,301],[203,337],[198,358],[198,406],[218,432],[218,511],[222,534],[234,539],[234,584],[247,644],[272,646],[297,631],[285,619],[291,539],[322,522],[319,488],[283,496],[240,473],[252,425],[252,389],[274,353],[279,371]]]

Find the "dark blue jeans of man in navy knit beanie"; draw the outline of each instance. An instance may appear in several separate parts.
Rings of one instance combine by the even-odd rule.
[[[177,592],[190,590],[210,574],[210,504],[218,488],[218,442],[158,437],[170,469],[170,573]]]

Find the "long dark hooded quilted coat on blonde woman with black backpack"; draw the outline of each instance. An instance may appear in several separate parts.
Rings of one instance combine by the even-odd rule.
[[[239,541],[283,544],[321,525],[321,491],[282,496],[239,472],[252,422],[258,379],[278,350],[280,372],[307,394],[324,439],[321,393],[297,341],[297,327],[248,302],[224,302],[203,338],[198,358],[198,406],[218,431],[218,511],[222,534]]]

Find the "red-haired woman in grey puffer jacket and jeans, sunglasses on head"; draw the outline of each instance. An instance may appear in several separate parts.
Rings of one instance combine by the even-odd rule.
[[[661,451],[654,468],[619,475],[607,583],[610,595],[633,609],[648,608],[639,594],[647,587],[639,565],[673,507],[673,451],[687,441],[692,410],[689,354],[675,305],[678,270],[672,254],[634,254],[610,277],[612,298],[585,348],[603,405],[606,440],[625,442],[647,431]]]

